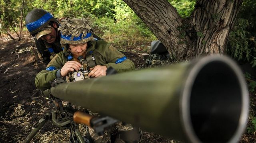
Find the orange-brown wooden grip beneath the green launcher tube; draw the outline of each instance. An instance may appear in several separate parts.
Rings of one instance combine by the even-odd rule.
[[[73,119],[76,123],[83,123],[88,126],[90,125],[90,120],[92,119],[92,116],[85,114],[84,112],[77,111],[73,115]]]

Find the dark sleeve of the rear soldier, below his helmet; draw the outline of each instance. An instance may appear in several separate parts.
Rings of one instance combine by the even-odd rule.
[[[36,49],[38,51],[38,56],[40,60],[48,64],[51,61],[50,60],[51,54],[47,51],[44,41],[40,41],[35,38],[35,42],[36,42]]]

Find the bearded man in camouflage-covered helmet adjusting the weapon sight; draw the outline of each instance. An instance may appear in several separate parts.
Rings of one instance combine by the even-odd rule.
[[[36,76],[36,87],[41,90],[50,88],[49,81],[67,76],[68,73],[78,71],[82,65],[77,59],[83,56],[90,66],[90,77],[105,76],[109,67],[117,72],[135,70],[134,63],[117,51],[112,45],[102,39],[92,36],[93,32],[86,19],[68,18],[60,21],[62,47],[64,50],[50,61],[46,70]],[[100,90],[100,89],[99,89]],[[120,125],[117,140],[121,143],[140,142],[142,131],[138,127]],[[94,135],[92,135],[94,137]],[[98,137],[106,139],[107,137]],[[95,141],[95,140],[94,140]],[[96,142],[102,142],[98,140]]]

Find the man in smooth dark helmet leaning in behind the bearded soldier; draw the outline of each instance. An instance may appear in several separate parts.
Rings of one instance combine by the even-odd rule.
[[[26,27],[32,36],[35,36],[38,56],[44,63],[62,51],[58,20],[49,12],[42,9],[30,11],[26,18]]]

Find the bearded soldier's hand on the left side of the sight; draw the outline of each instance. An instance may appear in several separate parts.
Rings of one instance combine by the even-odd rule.
[[[61,68],[60,75],[64,77],[68,74],[68,72],[73,72],[73,71],[80,70],[80,67],[82,67],[82,65],[80,63],[78,63],[77,61],[68,61]]]

